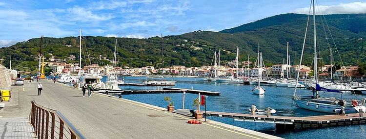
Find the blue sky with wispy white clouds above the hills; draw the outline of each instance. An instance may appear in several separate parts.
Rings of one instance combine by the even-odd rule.
[[[0,0],[0,47],[32,38],[149,38],[221,31],[285,13],[311,0]],[[366,0],[316,0],[323,14],[366,13]]]

